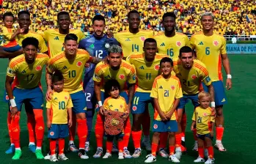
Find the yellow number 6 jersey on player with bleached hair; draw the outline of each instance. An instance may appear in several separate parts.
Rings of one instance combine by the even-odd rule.
[[[192,35],[191,47],[197,51],[197,59],[205,64],[212,81],[222,81],[222,58],[226,54],[226,40],[219,34],[205,36],[202,32]]]

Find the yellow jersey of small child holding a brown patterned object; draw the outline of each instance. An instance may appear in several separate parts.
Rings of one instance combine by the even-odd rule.
[[[122,96],[119,96],[117,99],[111,97],[106,98],[106,100],[103,103],[103,106],[106,110],[120,112],[125,112],[127,108],[125,98]]]

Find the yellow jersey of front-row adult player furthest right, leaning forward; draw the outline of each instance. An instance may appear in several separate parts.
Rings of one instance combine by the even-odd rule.
[[[193,65],[189,70],[183,68],[180,59],[174,59],[173,71],[180,79],[183,94],[199,93],[201,81],[205,83],[206,86],[211,84],[211,78],[209,77],[205,64],[197,59],[194,59]]]

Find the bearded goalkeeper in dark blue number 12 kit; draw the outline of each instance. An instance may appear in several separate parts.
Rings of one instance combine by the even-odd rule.
[[[107,47],[112,44],[118,45],[117,40],[114,38],[108,38],[107,34],[104,34],[104,28],[106,26],[105,18],[102,15],[95,15],[92,18],[92,29],[94,33],[81,40],[78,48],[82,48],[89,52],[90,56],[95,56],[100,59],[104,59],[108,55]],[[85,143],[85,151],[89,151],[89,138],[92,130],[92,118],[95,113],[96,97],[94,92],[94,82],[92,80],[93,73],[95,71],[95,64],[89,64],[84,73],[84,92],[87,101],[87,127],[88,135],[87,142]]]

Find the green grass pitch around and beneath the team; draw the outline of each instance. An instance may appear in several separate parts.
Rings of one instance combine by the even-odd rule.
[[[252,55],[230,56],[230,64],[233,75],[233,89],[226,92],[228,104],[224,106],[225,130],[223,143],[227,148],[227,152],[219,152],[215,149],[214,153],[216,163],[255,163],[255,60],[256,56]],[[0,65],[0,74],[2,77],[0,78],[0,88],[2,89],[2,92],[0,93],[0,97],[2,97],[4,94],[6,68],[7,60],[4,61],[4,59],[2,59]],[[42,78],[43,84],[45,84],[44,79],[45,77]],[[43,87],[45,90],[45,85],[43,85]],[[26,114],[24,110],[21,114],[21,149],[23,151],[23,156],[21,157],[21,160],[13,161],[11,160],[11,154],[4,154],[5,150],[10,146],[9,136],[7,135],[7,104],[1,102],[0,110],[2,111],[2,114],[0,115],[0,127],[2,135],[0,138],[1,163],[50,163],[45,160],[36,160],[34,154],[29,152],[29,136],[26,127]],[[193,107],[190,104],[187,105],[186,112],[188,115],[188,125],[186,129],[186,146],[188,148],[188,152],[183,154],[181,163],[193,163],[193,160],[195,160],[198,156],[197,152],[191,151],[194,143],[192,133],[189,130],[192,111]],[[150,113],[152,116],[152,107],[150,107]],[[48,149],[48,140],[46,138],[46,134],[47,130],[45,130],[45,139],[43,143],[44,154],[46,153],[45,150]],[[147,154],[145,151],[139,159],[117,160],[117,154],[114,154],[111,159],[107,160],[94,159],[92,157],[96,148],[94,136],[94,133],[92,133],[91,151],[88,153],[89,160],[80,160],[77,154],[67,152],[66,155],[70,158],[70,160],[59,163],[144,163],[145,156]],[[78,140],[76,138],[76,144],[77,143]],[[129,149],[131,149],[131,152],[134,152],[132,141],[130,141]],[[170,162],[167,159],[158,156],[156,163],[164,164]]]

